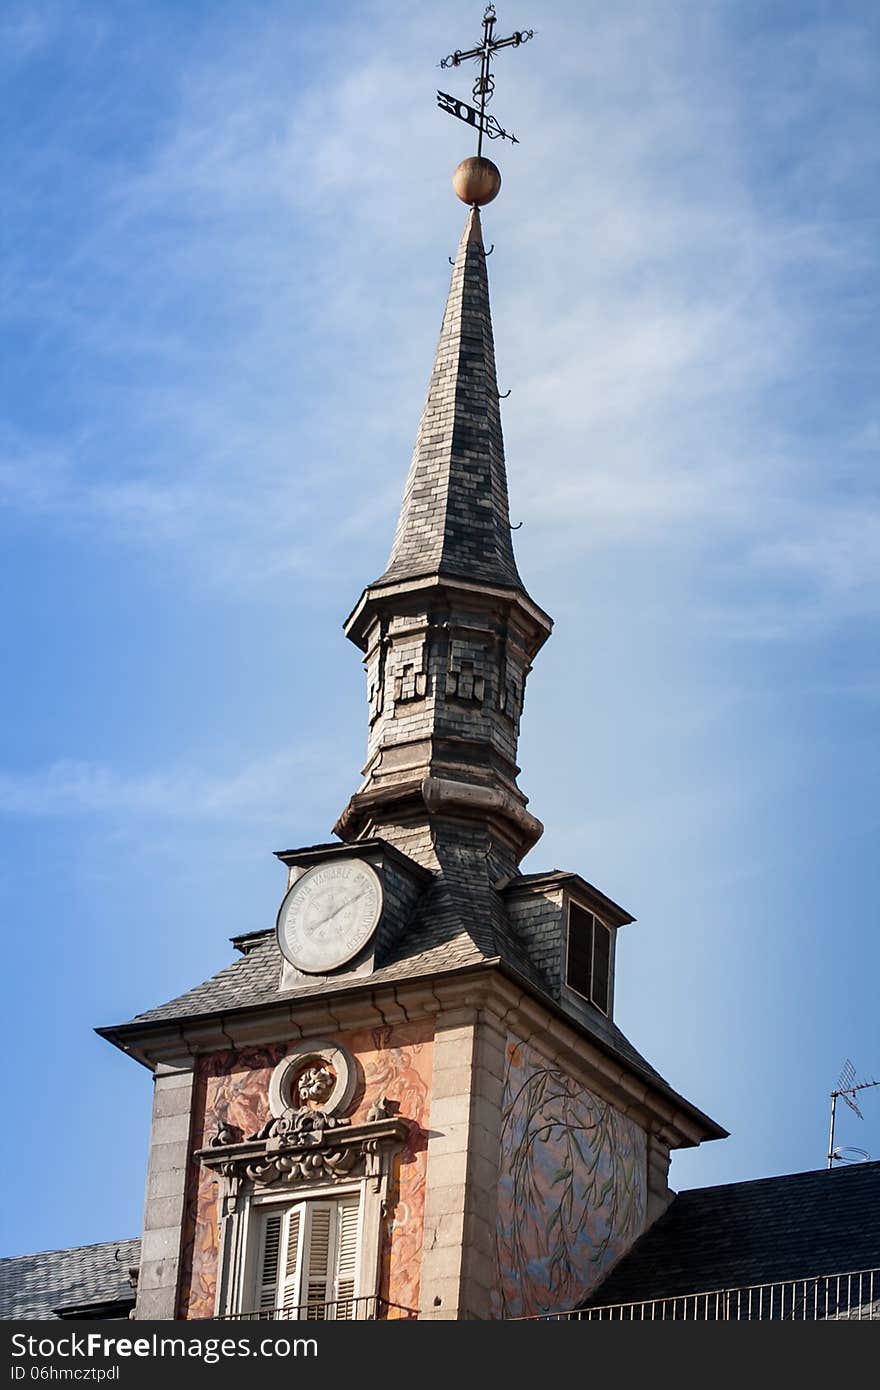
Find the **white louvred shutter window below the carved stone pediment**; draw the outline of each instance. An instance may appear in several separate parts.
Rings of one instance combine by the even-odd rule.
[[[267,1318],[356,1316],[357,1194],[259,1213],[254,1308]]]

